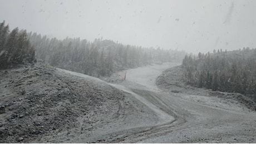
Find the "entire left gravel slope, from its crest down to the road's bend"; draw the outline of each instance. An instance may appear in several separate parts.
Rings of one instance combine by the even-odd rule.
[[[158,121],[135,97],[90,76],[41,64],[0,75],[0,142],[103,142],[106,133]]]

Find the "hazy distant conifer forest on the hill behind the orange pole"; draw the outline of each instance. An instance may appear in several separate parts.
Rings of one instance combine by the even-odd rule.
[[[36,58],[52,66],[91,76],[109,76],[116,70],[153,62],[181,61],[185,52],[123,45],[112,40],[66,38],[49,39],[37,33],[28,38],[36,48]]]

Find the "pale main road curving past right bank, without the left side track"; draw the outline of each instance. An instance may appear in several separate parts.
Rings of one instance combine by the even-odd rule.
[[[223,109],[213,106],[213,102],[219,103],[221,100],[197,96],[199,99],[209,99],[211,104],[194,102],[188,99],[190,95],[168,93],[158,89],[155,85],[157,76],[163,70],[176,65],[179,63],[164,63],[127,70],[126,81],[122,85],[159,107],[165,114],[173,116],[174,120],[166,119],[166,123],[153,126],[145,132],[133,133],[122,142],[256,142],[255,112],[248,112],[246,108],[244,111],[229,109],[225,104]],[[235,106],[234,104],[233,107]]]

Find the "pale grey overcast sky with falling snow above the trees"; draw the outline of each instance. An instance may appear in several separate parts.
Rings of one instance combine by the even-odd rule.
[[[11,29],[194,53],[256,48],[255,14],[253,0],[0,0]]]

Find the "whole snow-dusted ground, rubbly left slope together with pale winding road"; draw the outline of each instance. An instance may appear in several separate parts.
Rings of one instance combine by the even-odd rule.
[[[121,71],[121,78],[126,72],[126,80],[115,84],[42,65],[0,71],[0,140],[256,142],[255,111],[239,102],[186,85],[175,87],[180,83],[180,78],[175,80],[180,76],[176,69],[170,73],[173,78],[159,77],[172,83],[157,88],[157,76],[175,65],[179,63]],[[177,89],[179,93],[172,91]]]

